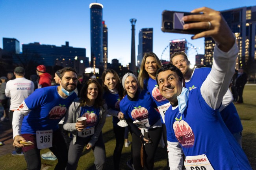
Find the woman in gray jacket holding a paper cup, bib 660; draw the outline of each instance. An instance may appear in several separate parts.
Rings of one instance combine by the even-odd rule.
[[[69,146],[67,170],[75,170],[83,148],[93,149],[96,170],[104,169],[106,151],[102,128],[106,121],[107,105],[103,103],[102,87],[96,80],[87,81],[80,98],[74,100],[65,116],[63,128],[72,133]],[[85,117],[86,125],[79,123],[78,118]]]

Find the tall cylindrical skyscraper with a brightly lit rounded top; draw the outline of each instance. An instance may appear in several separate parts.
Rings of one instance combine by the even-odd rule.
[[[103,5],[92,3],[89,7],[91,11],[91,64],[93,64],[93,58],[95,58],[95,65],[98,67],[103,63]]]

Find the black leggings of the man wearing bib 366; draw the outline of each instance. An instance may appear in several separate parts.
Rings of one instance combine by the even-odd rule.
[[[54,170],[65,170],[68,161],[68,150],[60,130],[53,132],[52,147],[49,149],[58,158],[58,163]],[[28,170],[41,169],[41,157],[39,149],[33,148],[24,152],[24,157],[28,166]]]

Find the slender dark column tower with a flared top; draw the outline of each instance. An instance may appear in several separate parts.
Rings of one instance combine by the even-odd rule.
[[[131,49],[131,63],[129,65],[130,71],[134,72],[135,76],[137,76],[136,73],[136,60],[135,60],[135,23],[136,19],[132,18],[130,19],[130,22],[132,24],[132,49]]]

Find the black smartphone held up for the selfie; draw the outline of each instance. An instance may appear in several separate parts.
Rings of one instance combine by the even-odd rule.
[[[180,34],[197,34],[202,31],[206,31],[206,29],[183,29],[184,24],[192,23],[192,22],[184,22],[182,20],[183,16],[191,15],[191,14],[201,14],[201,13],[187,13],[187,12],[179,12],[179,11],[163,11],[162,13],[162,26],[161,30],[163,32],[168,33],[180,33]]]

